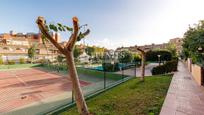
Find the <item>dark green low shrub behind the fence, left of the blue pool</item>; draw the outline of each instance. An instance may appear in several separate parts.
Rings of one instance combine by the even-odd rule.
[[[118,71],[119,70],[119,64],[118,63],[103,63],[102,64],[103,70],[108,72]]]

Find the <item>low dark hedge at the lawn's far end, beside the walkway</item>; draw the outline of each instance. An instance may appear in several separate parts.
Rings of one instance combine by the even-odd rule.
[[[164,65],[154,67],[152,75],[165,74],[177,71],[178,60],[167,61]]]

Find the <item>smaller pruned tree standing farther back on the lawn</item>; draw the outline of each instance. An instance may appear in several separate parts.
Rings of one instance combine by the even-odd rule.
[[[144,81],[144,77],[145,77],[145,51],[140,49],[139,47],[136,47],[136,49],[141,53],[141,57],[142,57],[142,64],[141,64],[141,81]]]

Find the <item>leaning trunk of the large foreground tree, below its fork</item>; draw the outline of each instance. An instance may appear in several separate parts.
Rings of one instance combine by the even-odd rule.
[[[72,86],[73,86],[72,89],[74,92],[74,97],[76,100],[78,112],[80,113],[80,115],[89,115],[89,111],[88,111],[82,90],[80,88],[79,78],[74,64],[74,57],[72,52],[68,52],[68,54],[66,55],[66,60],[67,60],[69,75],[72,81]]]

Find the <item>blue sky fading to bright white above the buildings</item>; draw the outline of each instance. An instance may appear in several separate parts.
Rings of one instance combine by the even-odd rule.
[[[164,43],[204,19],[204,0],[1,0],[0,33],[38,32],[35,20],[88,24],[88,45],[117,47]],[[69,34],[61,33],[62,41]],[[83,43],[82,41],[79,43]]]

